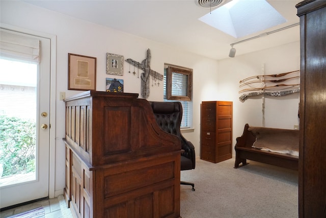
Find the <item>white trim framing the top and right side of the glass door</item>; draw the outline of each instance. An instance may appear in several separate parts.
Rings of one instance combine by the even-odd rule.
[[[56,179],[56,89],[57,36],[0,23],[1,28],[50,39],[50,138],[49,138],[49,198],[55,198]]]

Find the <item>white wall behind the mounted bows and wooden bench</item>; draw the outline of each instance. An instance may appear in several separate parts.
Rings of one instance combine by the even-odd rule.
[[[239,88],[240,80],[262,75],[263,69],[265,75],[299,70],[300,42],[219,61],[219,83],[216,98],[222,101],[233,101],[233,144],[236,143],[236,137],[242,135],[246,123],[251,126],[262,126],[263,124],[262,95],[241,102],[239,96],[242,93],[238,93],[243,88]],[[294,72],[293,75],[297,76],[298,73]],[[295,80],[295,82],[297,81],[298,79]],[[290,82],[284,83],[291,84]],[[297,88],[293,87],[293,89]],[[293,129],[294,125],[298,125],[299,95],[299,93],[281,97],[265,95],[265,127]],[[233,155],[235,154],[233,153]]]

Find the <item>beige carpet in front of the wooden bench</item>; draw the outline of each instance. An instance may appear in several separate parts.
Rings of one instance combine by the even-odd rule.
[[[220,163],[196,160],[182,171],[182,218],[298,217],[298,172],[249,161],[234,169],[234,159]]]

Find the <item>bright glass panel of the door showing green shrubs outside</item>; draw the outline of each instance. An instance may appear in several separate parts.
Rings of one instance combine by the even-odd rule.
[[[0,186],[36,179],[37,64],[0,59]]]

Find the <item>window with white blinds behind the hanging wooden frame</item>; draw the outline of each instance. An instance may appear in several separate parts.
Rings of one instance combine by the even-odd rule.
[[[165,64],[164,68],[164,101],[179,101],[182,104],[183,114],[181,120],[181,128],[188,128],[192,125],[192,102],[191,96],[190,98],[185,98],[189,94],[189,76],[183,74],[182,72],[178,72],[177,70],[171,71],[172,72],[172,82],[171,82],[171,95],[173,96],[173,100],[168,100],[167,90],[168,90],[168,79],[167,79],[167,72],[168,72],[169,65]],[[192,78],[192,75],[191,75]],[[192,88],[192,87],[190,87]],[[185,101],[186,100],[186,101]]]

